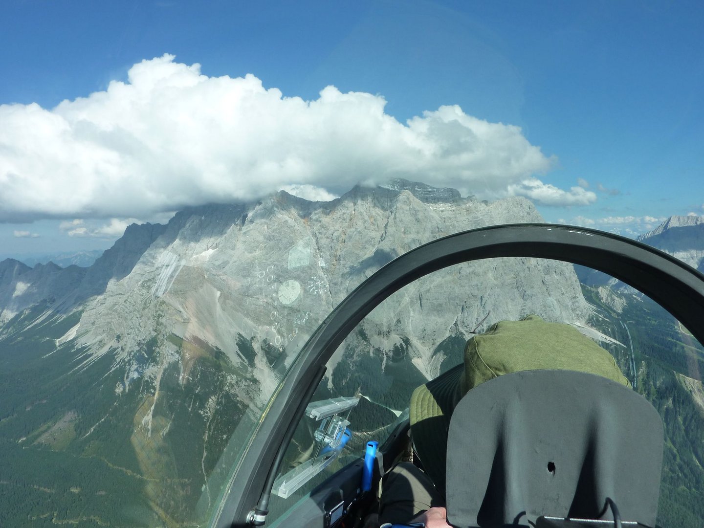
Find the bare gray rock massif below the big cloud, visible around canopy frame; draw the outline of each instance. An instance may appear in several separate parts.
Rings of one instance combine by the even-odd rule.
[[[331,202],[281,191],[256,203],[190,208],[165,226],[132,225],[87,270],[6,261],[4,320],[40,298],[66,313],[81,308],[72,336],[90,351],[87,362],[116,350],[116,360],[129,363],[154,336],[172,352],[168,336],[196,339],[249,365],[268,394],[272,355],[289,362],[334,306],[396,256],[462,230],[541,220],[526,199],[479,202],[405,180],[356,187]],[[586,322],[571,265],[520,258],[455,266],[410,284],[363,324],[380,350],[406,342],[432,377],[448,336],[467,338],[485,317],[479,331],[532,313]],[[241,351],[242,337],[255,357]]]

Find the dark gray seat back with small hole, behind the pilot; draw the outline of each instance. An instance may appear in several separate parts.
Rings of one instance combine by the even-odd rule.
[[[497,377],[453,412],[448,520],[464,528],[596,519],[610,497],[623,520],[654,526],[662,448],[660,415],[623,385],[569,370]]]

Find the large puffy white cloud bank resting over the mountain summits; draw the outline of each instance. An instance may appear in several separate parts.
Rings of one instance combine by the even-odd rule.
[[[142,61],[127,82],[51,110],[0,106],[0,221],[144,218],[282,188],[329,199],[389,177],[488,199],[596,200],[583,187],[565,191],[536,179],[555,160],[520,127],[458,106],[403,124],[385,103],[333,86],[303,101],[265,89],[253,75],[208,77],[170,55]]]

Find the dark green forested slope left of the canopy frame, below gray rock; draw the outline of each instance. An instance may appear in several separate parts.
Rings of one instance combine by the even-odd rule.
[[[178,339],[157,334],[128,368],[117,351],[86,361],[75,341],[56,344],[80,313],[27,327],[41,313],[16,316],[0,336],[0,526],[202,523],[217,498],[206,475],[245,408],[230,360],[180,340],[188,359],[169,362],[162,345]]]

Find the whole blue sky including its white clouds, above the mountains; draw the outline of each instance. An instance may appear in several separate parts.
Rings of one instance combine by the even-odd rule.
[[[240,115],[240,127],[251,115],[263,121],[286,115],[282,122],[294,132],[315,127],[341,138],[351,151],[344,163],[358,170],[359,180],[408,175],[490,199],[529,196],[548,221],[631,235],[669,215],[704,214],[699,2],[10,0],[2,11],[0,257],[107,248],[127,223],[168,220],[170,211],[199,200],[247,198],[287,184],[332,196],[353,182],[355,174],[338,175],[336,144],[313,133],[310,142],[320,149],[313,161],[296,155],[310,146],[298,139],[301,133],[291,137],[276,123],[246,133],[223,123],[218,139],[208,137],[212,127],[203,123],[217,117],[209,97],[221,88],[251,94],[242,105],[256,112],[246,114],[250,121]],[[128,74],[142,61],[148,62]],[[195,63],[199,72],[187,70]],[[156,89],[162,74],[155,72],[164,68],[176,84]],[[227,87],[215,82],[248,73],[256,78]],[[205,78],[199,74],[209,82],[196,94],[191,84]],[[103,101],[111,81],[128,89],[134,82],[134,93],[113,90]],[[337,91],[321,96],[329,85]],[[266,92],[272,88],[280,94]],[[347,92],[369,95],[346,98]],[[318,105],[284,101],[296,96]],[[125,101],[137,106],[121,112]],[[163,113],[152,112],[162,104],[186,116],[181,125],[196,121],[176,127],[191,143],[217,143],[222,134],[231,143],[258,143],[249,146],[249,157],[230,158],[223,143],[179,161],[183,148],[171,152],[168,145],[191,144],[187,139],[174,135],[151,145],[151,137],[139,135],[167,126],[158,122]],[[439,111],[453,105],[461,111]],[[415,128],[407,124],[414,116]],[[389,127],[388,134],[376,137],[376,125]],[[408,127],[415,135],[407,141]],[[108,128],[109,137],[102,134]],[[372,130],[375,144],[360,141],[364,130]],[[264,159],[277,146],[266,144],[270,136],[291,142],[287,156]],[[479,138],[481,156],[456,150],[468,137]],[[409,141],[434,151],[432,165],[414,158],[420,154],[408,150]],[[387,142],[392,146],[377,149]],[[84,163],[92,145],[101,154]],[[176,168],[159,165],[158,153]],[[196,176],[201,159],[204,176]],[[278,172],[243,169],[241,180],[215,183],[260,159]],[[184,165],[191,172],[171,183]],[[257,178],[268,184],[251,184]]]

